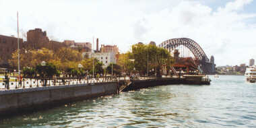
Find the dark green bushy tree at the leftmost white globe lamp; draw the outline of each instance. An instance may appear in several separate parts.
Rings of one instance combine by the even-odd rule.
[[[40,77],[53,77],[53,75],[59,75],[57,67],[53,63],[46,63],[46,65],[36,65],[36,71]]]

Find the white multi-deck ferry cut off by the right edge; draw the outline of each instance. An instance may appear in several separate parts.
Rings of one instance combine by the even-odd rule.
[[[256,65],[247,67],[245,71],[245,77],[247,82],[255,83],[256,82]]]

